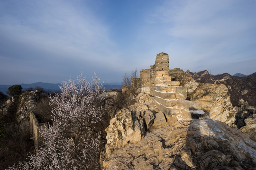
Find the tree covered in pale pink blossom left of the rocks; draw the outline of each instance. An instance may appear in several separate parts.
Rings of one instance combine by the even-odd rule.
[[[69,80],[60,87],[62,93],[50,97],[53,126],[40,129],[42,146],[29,161],[9,167],[16,169],[91,170],[100,169],[102,119],[102,85],[95,75],[91,82],[85,76]]]

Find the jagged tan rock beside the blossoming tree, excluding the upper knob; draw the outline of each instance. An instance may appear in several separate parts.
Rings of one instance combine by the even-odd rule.
[[[146,129],[139,112],[122,109],[110,120],[110,126],[105,131],[107,132],[106,139],[108,141],[106,156],[109,157],[115,148],[140,141]]]

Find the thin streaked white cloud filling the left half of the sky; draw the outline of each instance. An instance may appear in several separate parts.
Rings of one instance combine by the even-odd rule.
[[[4,2],[1,3],[4,8]],[[35,66],[37,72],[42,71],[37,69],[39,65],[51,65],[50,62],[62,63],[62,60],[69,61],[70,65],[78,64],[77,68],[82,70],[87,70],[82,68],[82,63],[85,63],[85,67],[91,65],[91,69],[92,65],[110,70],[118,67],[117,62],[112,62],[119,60],[119,52],[114,50],[115,43],[109,38],[110,30],[94,17],[89,8],[84,5],[80,7],[79,3],[70,1],[23,3],[13,3],[10,7],[17,8],[17,14],[21,16],[8,13],[0,18],[0,43],[3,44],[2,48],[9,49],[1,53],[1,58],[6,56],[19,60],[20,64],[23,64],[23,67],[18,67],[20,71],[28,66],[22,62],[24,60],[30,61],[30,64],[34,61],[32,66]],[[12,46],[14,44],[17,46]],[[55,72],[61,73],[65,69],[65,66],[55,66]]]

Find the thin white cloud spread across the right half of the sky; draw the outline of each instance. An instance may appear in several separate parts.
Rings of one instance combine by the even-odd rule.
[[[215,74],[248,74],[252,70],[232,68],[230,63],[255,57],[255,48],[247,49],[256,43],[252,39],[256,36],[255,9],[251,1],[165,1],[151,15],[150,22],[165,27],[162,31],[172,39],[165,50],[170,51],[177,65],[193,71],[211,68]],[[243,49],[250,51],[241,52]],[[227,67],[215,69],[219,64]]]

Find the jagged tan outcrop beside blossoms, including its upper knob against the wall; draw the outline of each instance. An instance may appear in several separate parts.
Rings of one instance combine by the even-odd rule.
[[[155,119],[153,97],[146,93],[139,93],[136,100],[137,102],[131,105],[129,110],[119,110],[110,120],[109,127],[105,129],[107,132],[106,158],[113,150],[140,141],[153,125]]]

